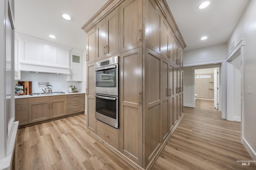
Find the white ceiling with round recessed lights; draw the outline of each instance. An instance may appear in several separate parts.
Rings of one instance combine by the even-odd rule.
[[[166,0],[187,47],[185,51],[226,43],[249,0]],[[75,49],[86,49],[81,27],[108,0],[15,0],[15,31]],[[96,5],[95,5],[96,4]],[[62,18],[69,14],[71,20]],[[52,39],[49,35],[55,35]],[[201,37],[208,39],[202,41]]]

